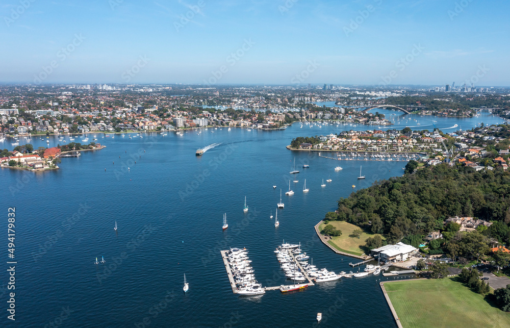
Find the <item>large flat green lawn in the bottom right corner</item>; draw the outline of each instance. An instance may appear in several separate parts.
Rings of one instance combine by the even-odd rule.
[[[453,278],[385,283],[400,322],[407,327],[510,327],[510,313]]]

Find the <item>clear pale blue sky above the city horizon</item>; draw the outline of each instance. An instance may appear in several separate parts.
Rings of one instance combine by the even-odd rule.
[[[507,9],[491,0],[4,0],[0,82],[510,86]]]

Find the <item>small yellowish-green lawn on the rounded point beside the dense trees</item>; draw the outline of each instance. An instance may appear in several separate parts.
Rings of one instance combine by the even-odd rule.
[[[342,231],[342,236],[333,237],[328,240],[328,244],[335,247],[336,249],[343,251],[348,254],[363,256],[365,255],[361,246],[365,246],[368,237],[373,237],[373,234],[363,233],[360,238],[349,237],[350,234],[356,229],[361,229],[359,226],[345,222],[345,221],[329,221],[329,224],[333,224],[335,228]],[[325,224],[322,223],[319,226],[319,231],[322,231]],[[385,239],[381,236],[382,239]]]

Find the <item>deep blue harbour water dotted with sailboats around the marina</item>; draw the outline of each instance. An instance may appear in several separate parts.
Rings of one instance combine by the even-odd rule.
[[[399,112],[380,112],[395,113],[395,119],[402,120]],[[463,130],[481,121],[502,122],[489,113],[472,119],[406,117],[421,123],[413,129],[432,129],[432,120],[440,129],[458,124]],[[412,122],[397,126],[417,125]],[[375,180],[401,175],[405,162],[364,161],[367,179],[358,181],[360,162],[338,162],[285,148],[297,136],[351,129],[369,127],[300,128],[295,123],[285,131],[209,128],[200,134],[148,133],[143,138],[130,134],[132,139],[127,134],[124,138],[97,134],[106,148],[63,158],[60,170],[1,169],[0,211],[7,218],[8,208],[16,208],[17,326],[301,327],[317,326],[317,312],[323,314],[324,327],[395,326],[378,285],[382,276],[241,298],[232,293],[219,253],[228,247],[248,248],[263,286],[286,283],[273,253],[284,239],[301,242],[318,267],[352,270],[348,263],[356,259],[333,253],[318,240],[313,226],[336,209],[340,197]],[[93,134],[88,137],[92,140]],[[69,137],[64,139],[69,142]],[[62,143],[55,136],[47,140],[49,146]],[[23,141],[20,138],[20,144]],[[0,147],[11,149],[10,142]],[[220,145],[195,156],[195,149],[213,143]],[[46,138],[33,138],[32,144],[46,146]],[[294,158],[299,182],[291,182],[295,194],[286,196]],[[303,164],[310,168],[303,169]],[[335,171],[339,164],[343,170]],[[328,177],[332,181],[321,188],[322,179]],[[305,179],[308,194],[301,192]],[[278,211],[280,226],[275,229],[269,216],[271,211],[274,215],[280,189],[285,209]],[[224,213],[229,227],[222,231]],[[8,261],[7,219],[2,222]],[[94,264],[101,257],[106,263]],[[12,292],[7,290],[6,270],[3,264],[4,305]],[[182,291],[185,273],[187,294]],[[3,310],[0,325],[10,322],[7,315]]]

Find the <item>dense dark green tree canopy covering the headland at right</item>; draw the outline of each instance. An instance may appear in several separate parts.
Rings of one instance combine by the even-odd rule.
[[[494,228],[483,234],[508,241],[509,208],[510,172],[441,164],[376,181],[340,199],[337,219],[387,234],[392,243],[404,236],[443,229],[448,217],[470,215],[495,221]],[[458,224],[448,225],[445,239],[452,239],[458,228]]]

